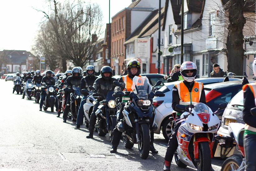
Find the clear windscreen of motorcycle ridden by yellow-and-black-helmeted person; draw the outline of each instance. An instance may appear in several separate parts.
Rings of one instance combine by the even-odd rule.
[[[135,94],[138,95],[139,99],[147,99],[148,94],[151,92],[152,87],[149,84],[149,79],[146,76],[135,76],[132,79],[132,86],[131,89],[134,91]]]

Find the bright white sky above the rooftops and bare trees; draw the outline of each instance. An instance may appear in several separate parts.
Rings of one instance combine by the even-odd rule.
[[[63,2],[64,0],[60,0]],[[73,0],[70,0],[73,1]],[[108,0],[84,0],[97,2],[103,13],[104,27],[108,23]],[[123,8],[128,7],[131,0],[110,0],[110,16],[114,16]],[[1,0],[0,1],[0,51],[26,50],[31,51],[39,23],[44,15],[34,8],[48,9],[47,0]],[[111,18],[110,18],[111,21]]]

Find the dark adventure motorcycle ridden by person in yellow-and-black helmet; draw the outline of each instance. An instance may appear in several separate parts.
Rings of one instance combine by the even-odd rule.
[[[117,129],[123,132],[125,147],[130,149],[134,144],[138,144],[140,157],[147,159],[150,149],[150,129],[157,129],[154,115],[155,107],[152,105],[153,97],[164,96],[161,91],[152,90],[152,88],[160,85],[162,81],[157,81],[152,87],[147,78],[135,76],[133,83],[133,92],[126,91],[123,93],[120,91],[113,94],[118,99],[126,95],[130,96],[130,101],[126,103],[123,110],[124,120],[117,123]],[[114,81],[114,85],[125,89],[117,81]]]

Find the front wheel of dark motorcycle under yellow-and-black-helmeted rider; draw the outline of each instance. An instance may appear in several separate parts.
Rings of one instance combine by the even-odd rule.
[[[150,149],[149,125],[146,123],[140,124],[139,129],[140,142],[138,143],[138,149],[140,152],[140,158],[147,159]]]

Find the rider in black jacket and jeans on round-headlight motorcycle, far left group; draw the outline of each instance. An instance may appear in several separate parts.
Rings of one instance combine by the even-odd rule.
[[[54,78],[52,77],[52,71],[51,70],[47,70],[45,72],[45,76],[42,78],[42,81],[41,81],[41,85],[42,83],[45,83],[46,85],[55,85],[55,80]],[[43,106],[43,103],[44,103],[44,100],[45,100],[45,96],[46,96],[46,92],[45,92],[45,89],[41,89],[41,100],[40,100],[40,109],[39,111],[42,111],[42,106]],[[56,107],[56,111],[58,110],[58,101],[57,101],[57,97],[55,95],[55,107]]]

